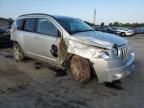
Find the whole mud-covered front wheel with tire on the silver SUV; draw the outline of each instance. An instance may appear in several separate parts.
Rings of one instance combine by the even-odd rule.
[[[69,64],[69,71],[75,81],[88,82],[91,78],[90,65],[87,59],[74,55]]]

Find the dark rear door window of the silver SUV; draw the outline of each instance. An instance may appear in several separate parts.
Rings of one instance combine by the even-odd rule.
[[[24,30],[33,32],[35,26],[35,19],[26,19],[24,23]]]

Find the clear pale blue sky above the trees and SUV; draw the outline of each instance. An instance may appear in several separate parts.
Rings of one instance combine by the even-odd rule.
[[[0,17],[16,18],[26,13],[77,17],[96,23],[144,22],[144,0],[0,0]]]

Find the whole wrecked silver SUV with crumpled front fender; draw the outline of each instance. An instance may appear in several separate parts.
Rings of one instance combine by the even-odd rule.
[[[131,73],[135,54],[127,40],[95,31],[80,19],[26,14],[11,28],[13,54],[65,68],[79,82],[96,75],[100,83],[122,79]],[[92,74],[95,73],[95,74]]]

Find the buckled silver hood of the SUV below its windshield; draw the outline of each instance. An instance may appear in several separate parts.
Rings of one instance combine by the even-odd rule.
[[[103,33],[99,31],[80,32],[71,36],[72,40],[79,41],[81,43],[94,45],[98,47],[110,49],[114,44],[121,46],[127,44],[127,40],[116,36],[114,34]]]

